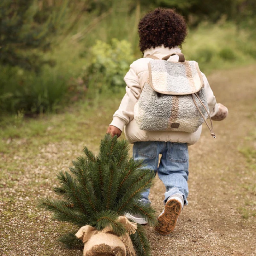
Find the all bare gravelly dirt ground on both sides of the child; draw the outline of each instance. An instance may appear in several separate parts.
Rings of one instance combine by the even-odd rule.
[[[214,122],[216,139],[204,125],[199,142],[189,147],[189,204],[171,235],[161,236],[146,226],[152,256],[256,255],[256,217],[243,218],[239,211],[246,202],[254,202],[251,208],[255,208],[256,202],[256,194],[245,189],[246,185],[255,184],[255,171],[250,171],[239,152],[256,125],[255,116],[252,118],[256,110],[255,69],[251,66],[219,71],[208,77],[217,101],[228,107],[229,116]],[[11,143],[25,142],[17,139]],[[36,204],[42,196],[54,196],[56,172],[67,170],[70,161],[81,155],[84,143],[97,150],[88,138],[81,145],[72,145],[68,140],[39,145],[36,157],[29,148],[13,156],[0,154],[4,166],[13,161],[18,165],[16,171],[8,167],[2,170],[10,172],[10,179],[0,183],[1,256],[83,254],[81,250],[64,249],[56,242],[60,230],[65,233],[69,226],[53,221]],[[163,209],[164,190],[156,178],[150,199],[157,213]]]

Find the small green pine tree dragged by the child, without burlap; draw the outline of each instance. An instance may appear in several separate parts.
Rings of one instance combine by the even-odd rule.
[[[100,143],[98,156],[84,147],[85,156],[73,161],[70,172],[60,172],[60,187],[54,188],[61,199],[44,198],[41,206],[53,212],[56,220],[82,227],[91,225],[97,230],[111,226],[117,236],[125,233],[124,226],[117,222],[126,212],[141,214],[149,224],[155,224],[155,212],[143,205],[140,193],[151,187],[154,172],[142,168],[142,162],[129,158],[126,140],[117,140],[106,135]],[[150,247],[138,224],[137,232],[131,235],[139,256],[149,256]],[[60,241],[72,247],[77,239],[69,233]]]

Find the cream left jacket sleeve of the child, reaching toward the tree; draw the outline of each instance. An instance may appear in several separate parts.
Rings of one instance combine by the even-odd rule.
[[[119,108],[114,113],[113,120],[110,124],[116,126],[121,131],[124,125],[133,119],[134,105],[138,101],[141,93],[139,78],[133,68],[130,68],[124,76],[124,81],[126,83],[126,93]]]

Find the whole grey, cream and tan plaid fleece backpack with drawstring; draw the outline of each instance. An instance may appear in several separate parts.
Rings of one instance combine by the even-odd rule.
[[[182,53],[179,61],[153,55],[148,63],[149,80],[144,84],[134,107],[134,118],[141,130],[195,132],[209,118],[203,77],[196,61],[187,61]]]

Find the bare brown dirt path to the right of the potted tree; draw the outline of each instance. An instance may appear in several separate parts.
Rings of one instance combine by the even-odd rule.
[[[189,148],[189,197],[171,236],[148,228],[153,255],[256,255],[256,218],[241,218],[237,211],[247,198],[242,184],[254,177],[246,174],[246,161],[239,153],[244,138],[255,129],[255,67],[222,71],[208,80],[218,102],[229,109],[228,118],[214,122],[216,139],[204,127],[199,142]],[[255,172],[255,171],[254,171]],[[248,177],[249,176],[249,177]],[[162,211],[164,187],[157,180],[151,200]]]

